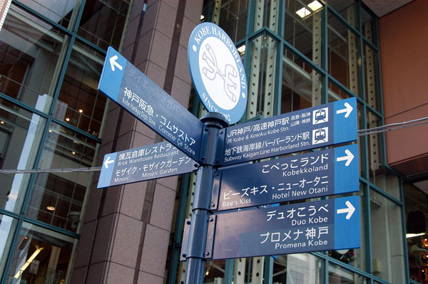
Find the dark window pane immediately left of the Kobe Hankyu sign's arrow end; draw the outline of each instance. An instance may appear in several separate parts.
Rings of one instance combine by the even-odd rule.
[[[104,56],[76,42],[71,52],[54,116],[91,135],[100,135],[106,96],[98,93]]]

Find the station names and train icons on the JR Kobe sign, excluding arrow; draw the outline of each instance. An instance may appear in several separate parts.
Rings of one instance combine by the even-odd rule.
[[[328,112],[328,107],[301,110],[229,127],[223,162],[234,164],[309,149],[312,145],[320,147],[332,139],[327,125]]]

